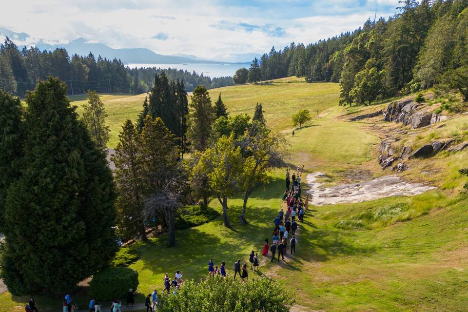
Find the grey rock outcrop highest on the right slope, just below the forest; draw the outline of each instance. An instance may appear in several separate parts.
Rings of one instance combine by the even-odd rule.
[[[426,103],[417,103],[413,99],[391,102],[383,111],[385,121],[402,122],[411,129],[429,126],[445,121],[448,116],[437,115],[429,111]]]

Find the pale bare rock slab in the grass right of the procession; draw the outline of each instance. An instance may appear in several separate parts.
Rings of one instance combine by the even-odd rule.
[[[420,183],[409,183],[399,176],[381,176],[361,183],[325,188],[321,187],[321,183],[316,182],[319,177],[324,175],[321,172],[316,172],[307,176],[307,182],[310,186],[310,190],[307,192],[312,195],[310,203],[316,206],[356,203],[390,196],[419,195],[435,189],[435,187]]]

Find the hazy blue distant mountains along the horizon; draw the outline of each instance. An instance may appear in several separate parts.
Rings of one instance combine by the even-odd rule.
[[[70,56],[73,54],[86,56],[89,54],[89,52],[93,52],[96,57],[100,55],[101,57],[105,57],[107,59],[117,58],[125,64],[250,64],[254,57],[258,57],[258,55],[254,54],[241,54],[222,57],[225,60],[207,60],[199,59],[194,55],[186,54],[162,55],[146,48],[114,49],[102,43],[89,42],[84,38],[78,38],[68,43],[48,43],[42,39],[33,39],[26,33],[16,33],[2,27],[0,27],[0,37],[8,37],[12,39],[18,46],[37,46],[40,50],[50,51],[57,48],[65,48]]]

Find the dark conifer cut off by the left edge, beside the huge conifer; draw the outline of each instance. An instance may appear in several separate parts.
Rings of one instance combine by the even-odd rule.
[[[21,101],[0,91],[0,232],[5,224],[3,207],[8,187],[20,177],[23,150]]]

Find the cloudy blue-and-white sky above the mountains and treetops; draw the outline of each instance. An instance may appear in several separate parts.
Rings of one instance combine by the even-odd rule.
[[[392,16],[397,0],[19,0],[0,26],[66,43],[80,37],[113,48],[229,59],[308,44]]]

